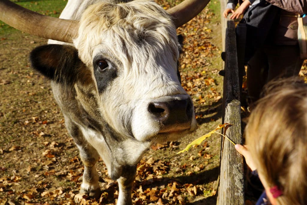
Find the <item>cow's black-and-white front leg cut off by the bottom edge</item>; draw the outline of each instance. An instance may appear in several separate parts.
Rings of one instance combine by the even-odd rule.
[[[131,194],[136,174],[136,166],[125,166],[122,169],[122,173],[122,176],[117,179],[119,187],[117,205],[130,205],[132,204]]]

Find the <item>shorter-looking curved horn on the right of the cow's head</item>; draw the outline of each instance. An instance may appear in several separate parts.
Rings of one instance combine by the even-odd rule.
[[[209,2],[210,0],[185,0],[167,12],[174,17],[174,24],[178,28],[199,14]]]

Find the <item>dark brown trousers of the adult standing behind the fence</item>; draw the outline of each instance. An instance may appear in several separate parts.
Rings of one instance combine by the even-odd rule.
[[[258,49],[247,66],[247,90],[251,101],[259,99],[268,81],[297,76],[303,61],[298,45],[272,45]]]

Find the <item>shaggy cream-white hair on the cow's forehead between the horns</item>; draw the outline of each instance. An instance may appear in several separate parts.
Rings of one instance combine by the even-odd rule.
[[[176,29],[170,15],[148,0],[99,2],[89,6],[81,17],[74,44],[87,66],[92,65],[98,45],[104,45],[105,52],[115,55],[124,67],[130,67],[133,61],[145,65],[149,59],[176,61],[179,57]]]

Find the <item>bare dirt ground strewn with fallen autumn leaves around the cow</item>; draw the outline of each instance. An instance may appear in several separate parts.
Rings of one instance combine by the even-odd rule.
[[[158,1],[165,8],[170,3]],[[40,1],[33,1],[33,4]],[[176,153],[221,124],[222,69],[219,2],[214,0],[178,34],[185,38],[182,85],[192,96],[198,131],[157,144],[138,165],[134,204],[216,204],[220,136]],[[60,11],[56,11],[59,13]],[[68,135],[49,80],[34,72],[29,52],[47,40],[0,25],[0,204],[114,204],[118,185],[97,165],[103,194],[78,195],[83,165]]]

